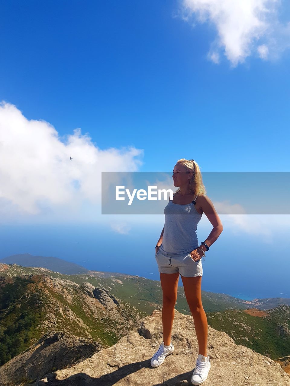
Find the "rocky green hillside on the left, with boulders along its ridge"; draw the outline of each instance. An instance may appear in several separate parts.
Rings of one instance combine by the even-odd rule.
[[[46,274],[0,277],[0,365],[47,332],[65,332],[110,347],[144,314],[89,282]]]

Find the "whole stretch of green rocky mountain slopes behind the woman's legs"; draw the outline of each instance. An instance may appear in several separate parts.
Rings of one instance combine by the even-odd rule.
[[[289,306],[202,291],[208,323],[271,359],[289,355]],[[289,299],[284,299],[289,301]],[[67,275],[42,267],[0,264],[0,359],[5,363],[46,332],[63,331],[115,344],[139,318],[162,308],[160,281],[118,273]],[[182,286],[176,310],[190,315]]]

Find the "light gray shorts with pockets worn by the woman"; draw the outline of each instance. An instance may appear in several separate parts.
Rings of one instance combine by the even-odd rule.
[[[186,278],[193,278],[194,276],[202,276],[202,264],[201,258],[198,261],[194,261],[190,252],[183,257],[172,257],[169,254],[167,256],[159,252],[155,254],[158,270],[161,273],[177,273]]]

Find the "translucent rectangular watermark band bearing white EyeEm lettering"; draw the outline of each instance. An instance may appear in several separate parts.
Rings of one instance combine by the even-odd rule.
[[[290,172],[203,172],[201,176],[203,194],[219,215],[290,214]],[[194,215],[192,196],[176,203],[189,205],[188,209],[174,208],[169,202],[175,201],[173,194],[179,188],[172,172],[102,172],[102,214],[164,215],[168,205],[167,213]]]

